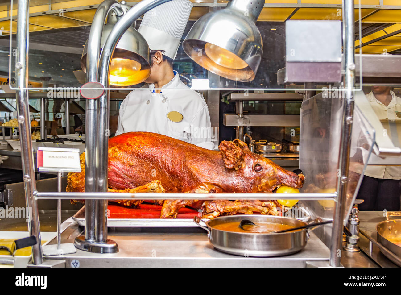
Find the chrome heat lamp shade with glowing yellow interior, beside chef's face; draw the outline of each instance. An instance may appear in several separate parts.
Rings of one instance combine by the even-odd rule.
[[[122,5],[123,6],[123,5]],[[128,6],[127,6],[128,7]],[[120,17],[111,11],[107,23],[103,27],[101,48],[113,26]],[[81,57],[81,67],[86,73],[87,43]],[[109,71],[109,84],[114,86],[130,86],[143,82],[151,71],[151,55],[148,43],[142,35],[130,26],[115,47]]]

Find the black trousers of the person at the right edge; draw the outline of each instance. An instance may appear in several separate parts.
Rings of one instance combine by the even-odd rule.
[[[360,211],[399,211],[401,180],[363,176],[357,199],[365,200],[358,205]]]

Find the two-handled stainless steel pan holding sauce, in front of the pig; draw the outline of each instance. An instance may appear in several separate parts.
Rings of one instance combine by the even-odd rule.
[[[201,220],[198,216],[194,217],[194,222],[201,228],[207,230],[209,242],[217,250],[234,254],[253,257],[283,256],[293,254],[302,250],[309,240],[309,233],[315,227],[294,232],[284,233],[247,233],[247,232],[229,232],[214,228],[217,224],[227,222],[241,222],[241,220],[251,220],[252,222],[273,222],[296,226],[304,226],[308,223],[295,218],[269,216],[269,215],[231,215],[221,216],[207,222]],[[318,220],[314,222],[321,221]],[[204,222],[205,226],[200,222]]]

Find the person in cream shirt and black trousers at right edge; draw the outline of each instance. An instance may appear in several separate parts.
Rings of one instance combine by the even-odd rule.
[[[379,120],[400,120],[401,98],[390,87],[373,86],[366,95]],[[398,211],[401,197],[401,166],[368,165],[357,199],[361,211]]]

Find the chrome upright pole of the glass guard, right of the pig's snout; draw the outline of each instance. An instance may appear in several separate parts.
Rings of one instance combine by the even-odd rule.
[[[344,213],[346,203],[346,192],[348,187],[348,166],[351,147],[352,115],[354,113],[354,1],[342,1],[342,25],[344,28],[344,67],[345,75],[343,85],[346,96],[343,98],[342,130],[340,139],[340,154],[338,157],[338,169],[340,177],[337,181],[338,199],[334,208],[334,222],[331,234],[330,266],[339,267],[342,251],[342,229],[344,225]]]

